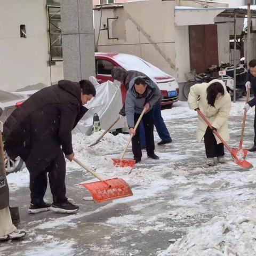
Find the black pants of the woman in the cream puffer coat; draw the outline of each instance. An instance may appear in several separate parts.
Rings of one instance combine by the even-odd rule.
[[[207,127],[204,134],[204,146],[207,158],[225,155],[223,143],[217,144],[213,132],[209,127]]]

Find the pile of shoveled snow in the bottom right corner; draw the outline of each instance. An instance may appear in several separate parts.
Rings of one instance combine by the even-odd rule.
[[[226,217],[214,217],[199,228],[191,228],[158,256],[256,255],[254,205],[231,206],[228,212]]]

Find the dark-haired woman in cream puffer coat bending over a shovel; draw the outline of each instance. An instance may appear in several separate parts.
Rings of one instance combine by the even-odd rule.
[[[228,116],[231,108],[230,95],[226,90],[226,85],[221,80],[214,79],[210,83],[195,84],[191,86],[188,96],[189,108],[197,108],[210,121],[213,129],[217,130],[223,140],[229,140]],[[206,163],[214,165],[214,157],[218,162],[225,162],[223,143],[213,134],[213,131],[198,116],[197,140],[201,142],[204,138]]]

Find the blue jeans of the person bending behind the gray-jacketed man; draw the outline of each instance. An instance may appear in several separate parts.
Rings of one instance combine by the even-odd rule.
[[[164,123],[164,119],[161,115],[161,105],[158,103],[153,107],[154,111],[154,125],[156,127],[156,131],[161,138],[161,140],[165,142],[171,142],[171,137],[170,133],[167,130],[167,127]],[[144,130],[144,125],[141,120],[140,122],[140,147],[141,148],[146,148],[146,141],[145,141],[145,130]]]

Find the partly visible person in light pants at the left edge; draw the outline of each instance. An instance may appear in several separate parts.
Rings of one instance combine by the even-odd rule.
[[[0,242],[26,235],[24,230],[18,230],[12,223],[9,209],[9,187],[5,175],[2,130],[3,123],[0,121]]]

